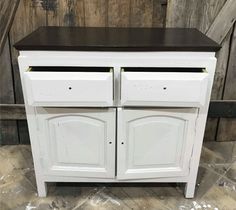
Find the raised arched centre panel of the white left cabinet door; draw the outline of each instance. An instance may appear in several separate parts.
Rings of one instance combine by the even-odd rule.
[[[58,163],[104,166],[106,122],[86,116],[49,120]]]

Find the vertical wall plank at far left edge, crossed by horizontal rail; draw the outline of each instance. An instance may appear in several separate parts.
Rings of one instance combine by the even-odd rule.
[[[0,55],[0,75],[0,103],[13,104],[14,88],[8,40]],[[0,120],[0,145],[18,143],[19,139],[16,121]]]

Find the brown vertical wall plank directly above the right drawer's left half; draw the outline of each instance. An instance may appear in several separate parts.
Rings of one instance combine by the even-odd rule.
[[[152,27],[153,0],[131,0],[130,27]]]

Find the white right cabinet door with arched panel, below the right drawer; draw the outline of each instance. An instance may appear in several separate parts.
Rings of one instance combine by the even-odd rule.
[[[197,109],[119,109],[118,179],[186,176]]]

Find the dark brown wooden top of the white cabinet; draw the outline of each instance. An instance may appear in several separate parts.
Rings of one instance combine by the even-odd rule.
[[[15,45],[17,50],[202,51],[220,49],[190,28],[40,27]]]

